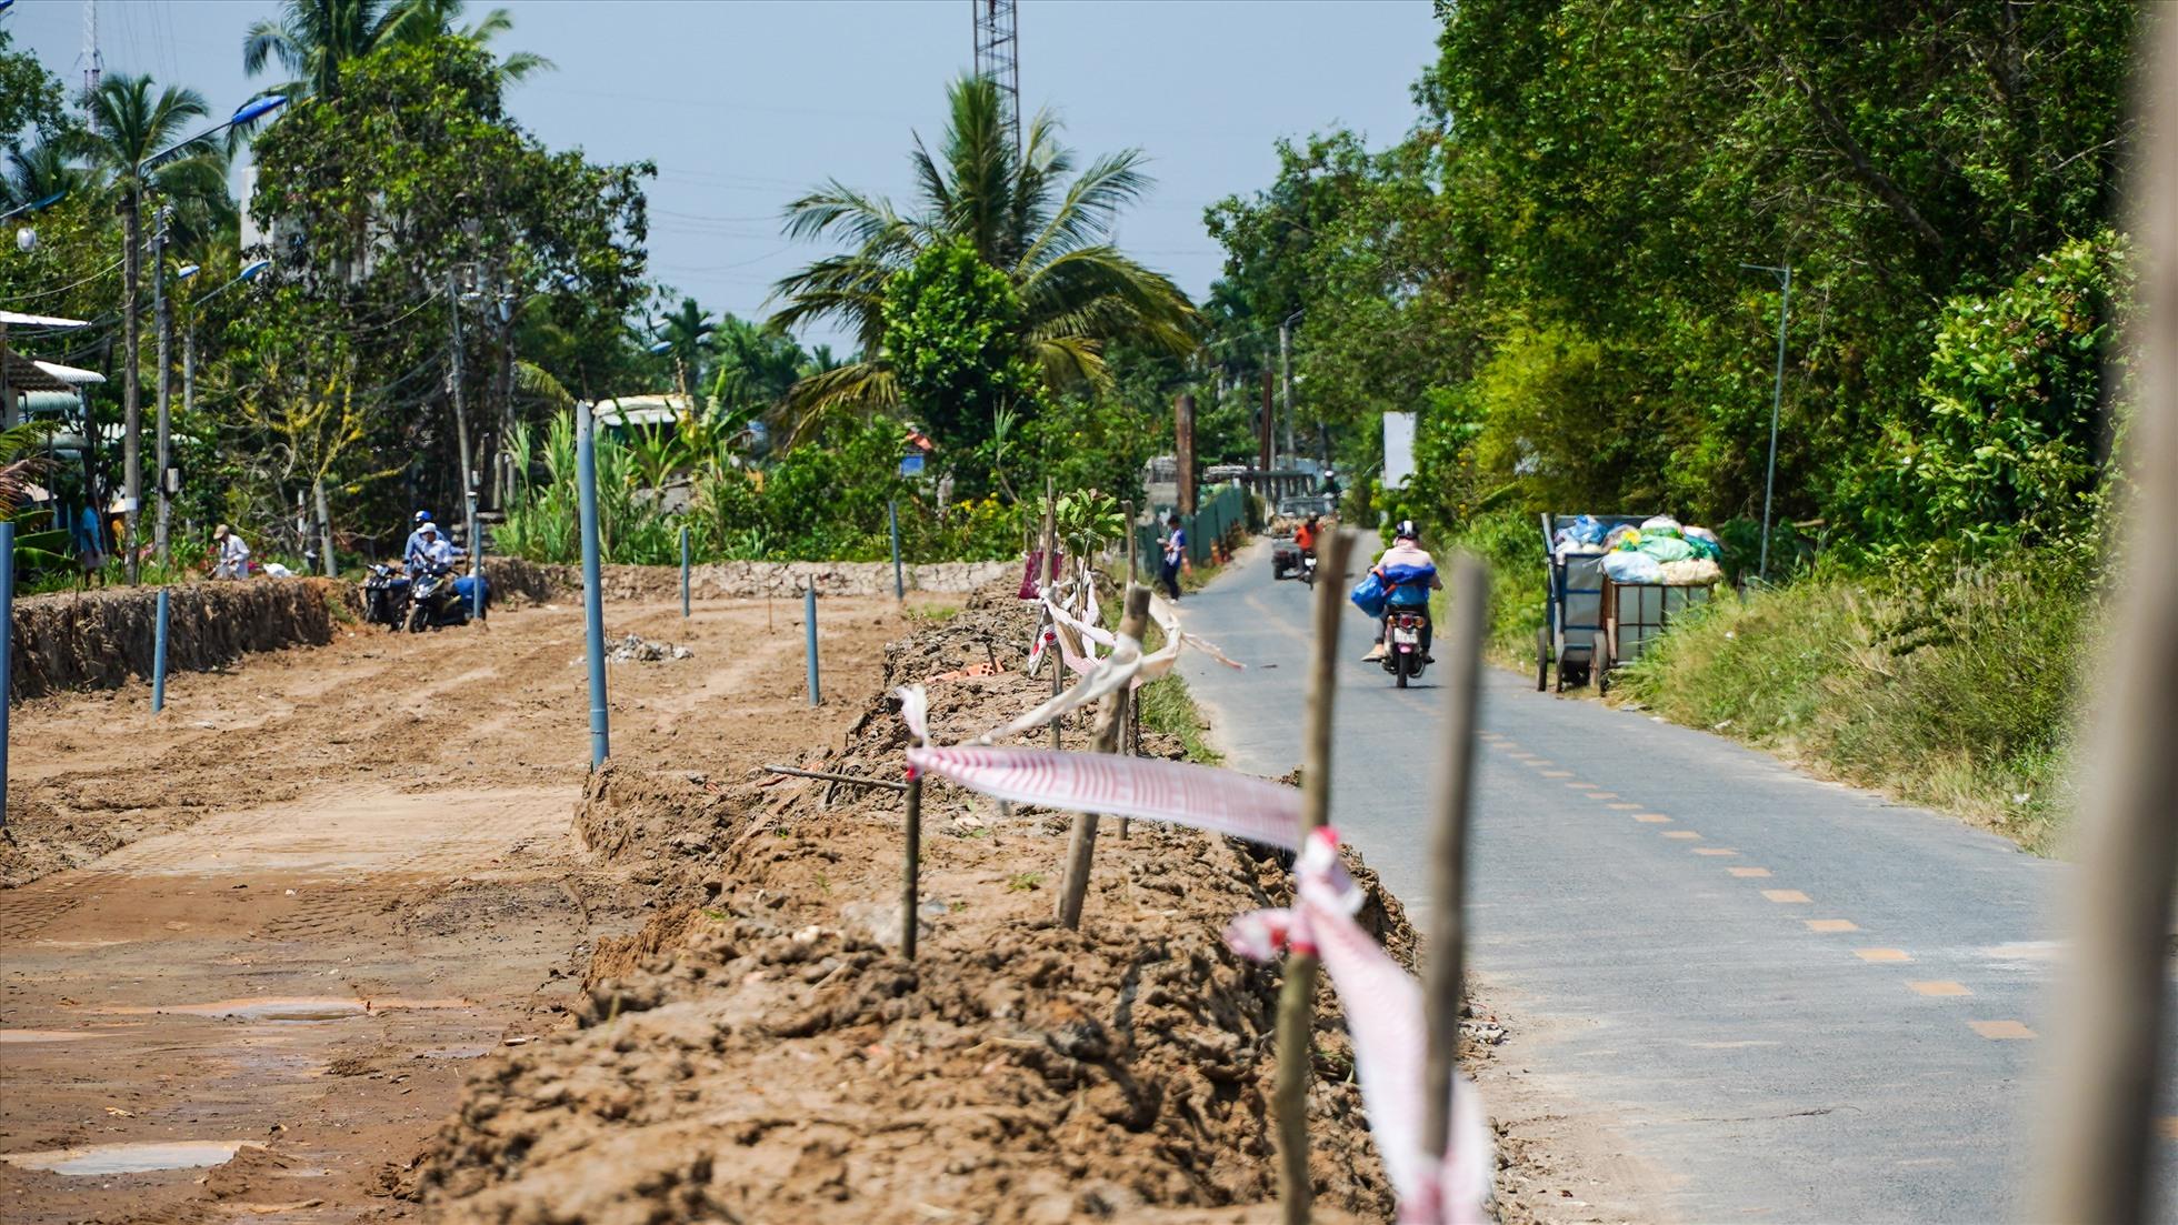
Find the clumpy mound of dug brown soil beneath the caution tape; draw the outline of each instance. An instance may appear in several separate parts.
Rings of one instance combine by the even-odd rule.
[[[980,603],[980,601],[978,601]],[[1048,694],[1028,624],[974,609],[895,644],[941,740]],[[960,675],[1004,668],[998,675]],[[1085,727],[1069,727],[1080,744]],[[900,777],[871,701],[802,764]],[[1178,746],[1150,738],[1152,753]],[[1252,1221],[1274,1195],[1278,973],[1220,929],[1285,873],[1106,822],[1080,931],[1052,923],[1067,818],[930,783],[919,957],[897,953],[902,799],[751,775],[597,779],[577,836],[666,905],[603,940],[579,1027],[494,1057],[427,1153],[444,1221]],[[1381,894],[1379,894],[1381,896]],[[1372,920],[1398,951],[1396,901]],[[1311,1090],[1320,1221],[1387,1221],[1335,997]]]

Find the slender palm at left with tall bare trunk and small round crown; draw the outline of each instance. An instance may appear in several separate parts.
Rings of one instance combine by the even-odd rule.
[[[144,191],[150,187],[203,189],[207,159],[216,157],[211,141],[181,146],[183,133],[205,117],[207,107],[196,89],[168,85],[152,96],[150,76],[118,72],[85,94],[89,126],[74,137],[94,170],[102,170],[122,196],[126,250],[122,252],[122,483],[129,498],[129,577],[135,579],[137,503],[144,494],[144,461],[139,442],[144,413],[137,396],[137,281],[144,248]],[[159,165],[146,165],[168,152]],[[220,161],[224,165],[224,161]],[[224,187],[222,187],[224,191]]]

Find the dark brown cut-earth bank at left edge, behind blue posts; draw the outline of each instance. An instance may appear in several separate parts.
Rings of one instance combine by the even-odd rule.
[[[253,651],[325,646],[338,618],[355,609],[355,590],[331,579],[181,583],[168,592],[170,672],[205,672]],[[157,607],[157,587],[15,601],[9,696],[118,690],[148,679]]]

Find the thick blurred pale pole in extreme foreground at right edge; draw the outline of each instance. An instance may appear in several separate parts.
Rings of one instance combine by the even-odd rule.
[[[2080,873],[2071,899],[2076,964],[2058,983],[2052,1092],[2036,1153],[2047,1153],[2034,1221],[2154,1221],[2154,1136],[2165,1007],[2171,877],[2178,873],[2178,559],[2161,540],[2178,522],[2178,22],[2148,22],[2154,39],[2141,91],[2143,174],[2134,185],[2141,237],[2141,363],[2132,422],[2132,507],[2124,581],[2113,601],[2102,694],[2087,703],[2089,781],[2080,809]]]

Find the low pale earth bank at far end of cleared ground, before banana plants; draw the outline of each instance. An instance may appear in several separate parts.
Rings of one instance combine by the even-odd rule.
[[[1019,561],[932,561],[904,566],[910,592],[965,594],[1006,574]],[[571,601],[582,594],[582,566],[544,566],[521,557],[486,557],[484,574],[494,598],[529,603]],[[677,601],[677,566],[605,566],[601,587],[608,601]],[[819,596],[891,596],[891,561],[717,561],[688,568],[688,594],[699,601],[802,596],[815,583]]]

